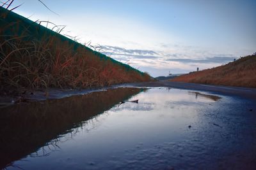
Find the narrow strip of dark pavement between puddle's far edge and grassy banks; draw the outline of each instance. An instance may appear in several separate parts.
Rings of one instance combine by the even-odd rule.
[[[109,87],[95,87],[93,89],[38,89],[24,90],[19,96],[0,96],[0,106],[9,106],[15,103],[28,103],[30,101],[45,101],[47,99],[62,99],[70,96],[90,94],[108,89],[129,88],[129,87],[170,87],[175,89],[201,90],[228,96],[238,96],[256,100],[256,89],[247,87],[230,87],[222,85],[204,85],[198,83],[184,83],[174,81],[145,81],[138,83],[122,83]]]

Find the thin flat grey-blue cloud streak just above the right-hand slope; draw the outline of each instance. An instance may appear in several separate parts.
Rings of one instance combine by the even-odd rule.
[[[227,62],[233,61],[235,58],[236,57],[206,57],[205,59],[167,59],[167,60],[183,62],[183,63],[227,63]]]

